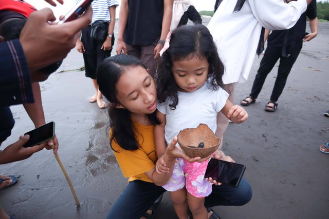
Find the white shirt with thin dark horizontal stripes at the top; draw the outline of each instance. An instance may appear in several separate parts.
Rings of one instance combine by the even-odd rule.
[[[108,8],[112,6],[117,7],[118,5],[119,3],[117,0],[94,0],[92,2],[92,7],[93,7],[92,23],[99,20],[104,22],[111,21],[111,15],[109,14]]]

